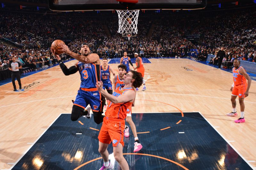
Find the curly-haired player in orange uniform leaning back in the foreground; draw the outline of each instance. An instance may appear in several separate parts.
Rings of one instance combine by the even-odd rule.
[[[123,156],[124,147],[124,126],[127,109],[132,106],[135,98],[135,91],[132,87],[140,87],[143,79],[141,73],[130,71],[124,75],[124,85],[118,87],[113,92],[113,95],[108,94],[102,87],[102,81],[96,84],[99,92],[109,100],[108,108],[105,112],[105,117],[99,133],[99,152],[104,161],[100,170],[107,170],[113,167],[113,164],[108,160],[108,145],[112,142],[113,152],[116,161],[119,163],[122,170],[128,170],[129,166]],[[121,144],[121,145],[120,145]]]

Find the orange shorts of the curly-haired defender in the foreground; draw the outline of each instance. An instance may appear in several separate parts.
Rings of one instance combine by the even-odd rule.
[[[110,144],[116,147],[119,143],[124,147],[124,127],[123,119],[104,117],[98,139],[101,143]]]

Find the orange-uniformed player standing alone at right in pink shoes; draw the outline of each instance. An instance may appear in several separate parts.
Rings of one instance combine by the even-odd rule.
[[[244,97],[247,97],[249,95],[249,89],[251,86],[251,78],[246,73],[244,67],[240,66],[239,60],[234,60],[234,68],[233,68],[233,85],[230,88],[230,91],[232,91],[231,94],[231,103],[233,107],[233,111],[228,113],[227,116],[237,116],[236,113],[236,97],[239,97],[239,104],[240,104],[240,111],[241,116],[239,119],[235,120],[236,123],[244,123]],[[246,82],[248,81],[248,84]]]

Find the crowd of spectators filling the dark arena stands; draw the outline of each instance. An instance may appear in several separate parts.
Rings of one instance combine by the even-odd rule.
[[[146,58],[188,56],[205,61],[208,54],[215,54],[218,48],[224,47],[223,67],[231,67],[230,62],[235,58],[256,61],[254,8],[205,15],[188,15],[185,12],[151,14],[150,17],[140,12],[138,34],[131,38],[131,51]],[[76,53],[81,43],[86,42],[91,51],[102,58],[122,57],[128,46],[127,38],[117,33],[117,14],[107,18],[81,15],[63,17],[2,12],[0,39],[13,42],[16,47],[0,44],[1,62],[10,62],[10,58],[15,56],[26,67],[35,70],[47,67],[57,62],[50,52],[51,42],[56,38],[69,39],[68,46]],[[200,39],[192,43],[186,35],[200,35]],[[214,58],[211,63],[213,61]]]

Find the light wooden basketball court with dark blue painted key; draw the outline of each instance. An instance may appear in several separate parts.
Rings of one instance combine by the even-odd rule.
[[[147,90],[138,91],[132,115],[143,148],[133,153],[132,134],[124,141],[130,168],[255,169],[253,90],[245,99],[246,122],[236,124],[226,116],[231,73],[189,59],[147,60]],[[116,73],[117,65],[110,64]],[[1,86],[1,169],[99,169],[101,124],[70,120],[80,75],[65,76],[57,65],[21,82],[24,91]]]

